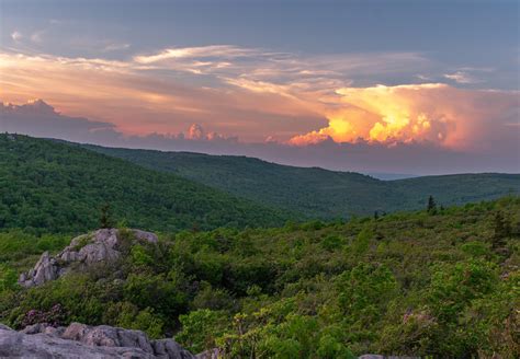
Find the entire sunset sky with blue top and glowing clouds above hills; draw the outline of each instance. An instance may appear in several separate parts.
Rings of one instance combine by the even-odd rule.
[[[520,172],[518,1],[0,0],[0,130]]]

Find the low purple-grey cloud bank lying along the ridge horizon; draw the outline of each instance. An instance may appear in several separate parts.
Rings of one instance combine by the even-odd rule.
[[[510,129],[509,140],[505,138],[506,142],[513,143],[509,155],[500,155],[501,148],[474,153],[442,148],[429,141],[395,141],[387,146],[362,139],[337,143],[329,138],[305,147],[272,138],[262,142],[242,142],[236,137],[206,132],[200,124],[189,126],[186,134],[125,135],[110,123],[59,114],[42,100],[23,105],[0,105],[0,131],[111,147],[249,155],[283,164],[358,172],[518,172],[520,153],[518,142],[510,141],[515,137]]]

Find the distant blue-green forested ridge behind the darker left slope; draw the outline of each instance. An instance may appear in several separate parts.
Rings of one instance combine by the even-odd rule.
[[[519,174],[461,174],[380,181],[352,172],[294,167],[253,158],[87,146],[143,166],[226,190],[307,218],[336,219],[443,206],[520,194]]]

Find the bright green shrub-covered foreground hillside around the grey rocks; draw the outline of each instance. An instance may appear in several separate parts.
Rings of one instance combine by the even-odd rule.
[[[65,241],[11,231],[0,234],[0,322],[139,328],[226,358],[518,358],[519,240],[520,198],[508,197],[163,234],[126,246],[114,267],[22,290],[16,274]]]

